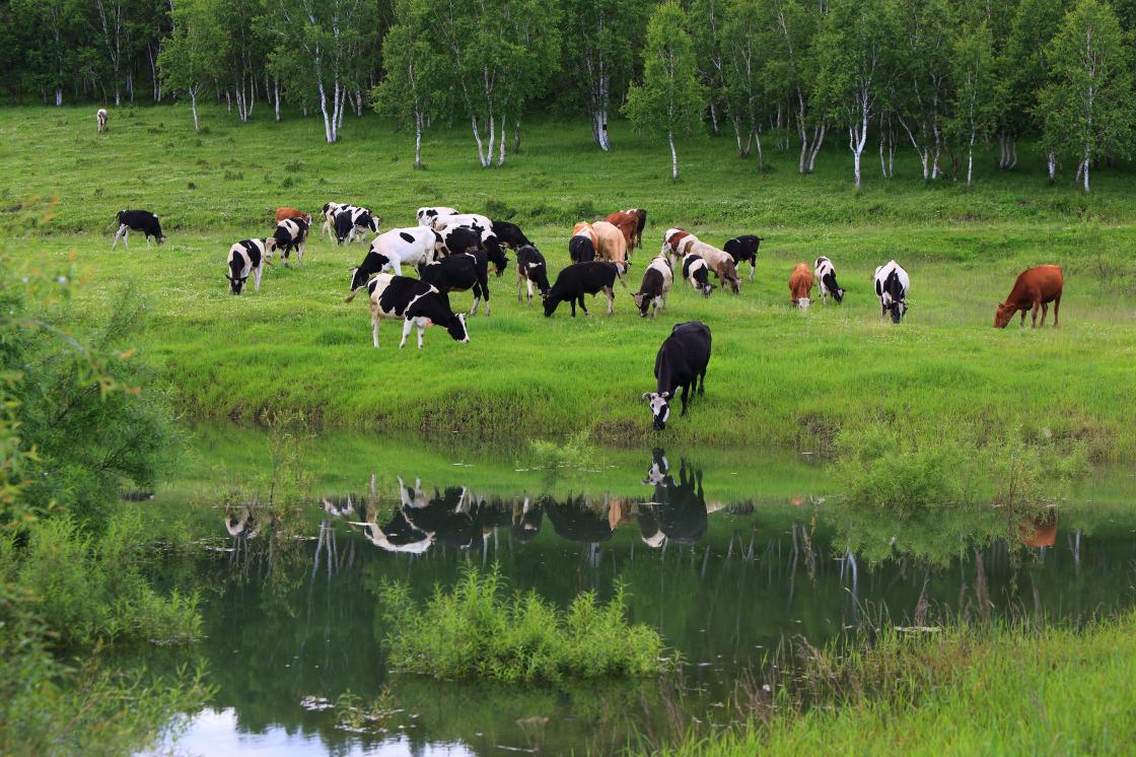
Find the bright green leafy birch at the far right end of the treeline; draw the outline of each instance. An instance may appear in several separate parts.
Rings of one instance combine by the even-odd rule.
[[[1125,157],[1133,139],[1133,73],[1127,41],[1112,8],[1080,0],[1045,51],[1050,81],[1038,97],[1043,141],[1074,157],[1089,191],[1089,169]]]

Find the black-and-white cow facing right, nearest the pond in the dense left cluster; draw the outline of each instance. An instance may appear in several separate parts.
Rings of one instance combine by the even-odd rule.
[[[424,281],[407,276],[378,274],[367,282],[370,293],[370,334],[378,347],[378,324],[383,318],[402,318],[402,341],[406,347],[410,330],[418,328],[418,349],[423,348],[426,326],[438,325],[449,332],[456,342],[468,342],[466,316],[454,314],[450,298]]]

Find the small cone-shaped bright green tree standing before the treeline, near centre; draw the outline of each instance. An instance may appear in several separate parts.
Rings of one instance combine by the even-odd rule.
[[[643,82],[632,85],[624,111],[637,130],[666,134],[671,181],[678,181],[675,135],[693,131],[704,107],[705,92],[698,80],[686,14],[678,2],[668,0],[651,14],[643,51]]]

